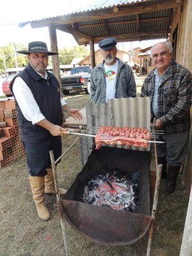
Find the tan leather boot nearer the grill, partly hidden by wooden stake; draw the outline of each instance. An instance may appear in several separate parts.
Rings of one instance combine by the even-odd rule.
[[[47,168],[46,170],[47,170],[47,175],[45,175],[45,193],[56,195],[52,168],[49,168],[49,169]],[[63,196],[67,193],[67,189],[58,188],[58,192],[60,193],[60,196]]]

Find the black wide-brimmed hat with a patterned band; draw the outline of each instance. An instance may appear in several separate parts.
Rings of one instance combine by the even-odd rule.
[[[32,52],[46,52],[48,55],[56,55],[57,52],[49,52],[47,49],[47,44],[40,41],[34,41],[28,44],[28,51],[17,51],[22,54],[30,54]]]

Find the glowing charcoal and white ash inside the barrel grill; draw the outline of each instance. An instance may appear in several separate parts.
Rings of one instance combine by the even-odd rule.
[[[102,205],[115,210],[136,212],[138,188],[134,174],[132,179],[117,175],[116,171],[98,175],[84,188],[83,201],[88,204]],[[117,175],[117,176],[115,176]]]

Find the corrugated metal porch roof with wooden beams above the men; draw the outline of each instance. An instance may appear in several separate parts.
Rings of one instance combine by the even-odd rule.
[[[90,44],[92,38],[97,44],[106,37],[115,37],[118,42],[165,39],[170,32],[172,8],[179,6],[170,1],[97,0],[71,13],[29,20],[20,26],[31,23],[33,28],[40,28],[54,24],[56,29],[72,33],[79,45]]]

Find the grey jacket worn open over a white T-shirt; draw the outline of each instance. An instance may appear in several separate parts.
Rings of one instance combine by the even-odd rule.
[[[136,83],[132,68],[118,60],[118,70],[116,72],[115,98],[136,97]],[[93,68],[91,74],[91,101],[94,103],[106,102],[106,77],[104,61]]]

